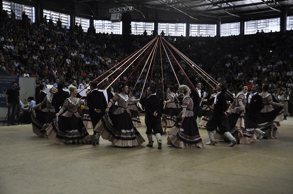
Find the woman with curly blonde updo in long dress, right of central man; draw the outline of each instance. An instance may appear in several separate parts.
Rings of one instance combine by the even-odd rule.
[[[178,148],[202,148],[203,141],[199,135],[196,119],[193,116],[193,101],[189,97],[190,89],[187,85],[179,86],[179,93],[183,94],[183,110],[177,121],[167,133],[167,144]]]

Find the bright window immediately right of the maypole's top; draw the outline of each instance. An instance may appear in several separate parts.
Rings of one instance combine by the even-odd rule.
[[[165,36],[186,36],[186,23],[158,23],[158,34],[164,30]]]

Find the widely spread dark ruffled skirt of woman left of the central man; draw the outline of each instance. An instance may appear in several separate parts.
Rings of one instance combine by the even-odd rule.
[[[98,122],[94,131],[100,133],[103,139],[112,142],[113,146],[140,146],[146,140],[133,126],[130,115],[125,111],[120,115],[110,112]]]

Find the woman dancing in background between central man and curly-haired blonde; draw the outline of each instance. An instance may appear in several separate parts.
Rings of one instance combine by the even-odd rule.
[[[177,99],[176,95],[173,93],[174,92],[174,87],[170,86],[167,88],[167,101],[164,101],[165,104],[165,111],[163,113],[163,118],[166,120],[167,122],[167,127],[173,127],[177,116],[180,113],[180,109],[176,106],[175,104],[175,100],[177,101],[177,103],[179,103],[179,100]],[[163,123],[162,123],[163,124]],[[165,124],[165,122],[164,122]],[[166,128],[165,131],[166,132]]]

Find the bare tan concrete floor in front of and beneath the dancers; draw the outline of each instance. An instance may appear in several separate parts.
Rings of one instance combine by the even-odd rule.
[[[144,120],[144,119],[142,119]],[[280,137],[179,149],[55,145],[31,125],[0,123],[0,194],[292,194],[293,117]],[[138,128],[146,138],[146,127]],[[88,130],[92,134],[92,130]],[[200,129],[203,142],[207,132]]]

